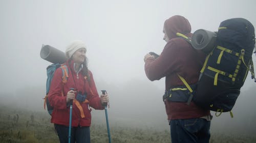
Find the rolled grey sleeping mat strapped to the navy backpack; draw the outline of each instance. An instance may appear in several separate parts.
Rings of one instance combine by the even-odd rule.
[[[194,32],[191,44],[195,49],[209,53],[216,45],[217,33],[203,29]]]

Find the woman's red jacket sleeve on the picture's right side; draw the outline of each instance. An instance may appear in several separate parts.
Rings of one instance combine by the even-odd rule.
[[[97,88],[93,79],[93,74],[91,71],[89,71],[90,74],[90,81],[89,81],[89,88],[90,88],[90,94],[88,95],[88,100],[90,101],[90,106],[97,110],[102,110],[104,107],[101,104],[99,94],[97,92]]]

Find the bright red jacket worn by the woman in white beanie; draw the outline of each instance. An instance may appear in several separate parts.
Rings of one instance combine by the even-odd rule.
[[[95,109],[104,109],[104,107],[101,105],[92,72],[89,71],[90,81],[88,81],[87,79],[84,79],[81,72],[79,72],[78,75],[75,73],[73,61],[71,61],[71,66],[69,66],[68,62],[66,62],[66,65],[69,70],[67,82],[65,84],[62,83],[61,68],[56,69],[51,82],[51,87],[48,94],[49,102],[53,106],[51,122],[54,124],[69,126],[70,106],[67,106],[66,96],[68,91],[70,91],[70,88],[74,88],[77,91],[81,91],[82,94],[87,93],[87,100],[89,100],[90,103],[80,103],[82,111],[85,115],[84,118],[81,118],[80,110],[76,104],[73,103],[72,126],[90,126],[91,109],[89,106]],[[63,96],[61,95],[61,90],[63,90]],[[77,93],[78,92],[76,92],[76,94]]]

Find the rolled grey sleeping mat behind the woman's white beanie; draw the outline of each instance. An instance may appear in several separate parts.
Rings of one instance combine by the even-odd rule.
[[[68,59],[64,52],[50,45],[42,45],[40,56],[42,59],[49,61],[53,64],[63,64]]]

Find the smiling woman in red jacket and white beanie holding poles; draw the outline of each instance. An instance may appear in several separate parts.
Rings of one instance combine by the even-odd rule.
[[[53,106],[51,123],[54,123],[59,141],[68,142],[70,104],[72,109],[71,142],[90,142],[91,107],[104,109],[109,102],[108,95],[99,97],[93,75],[87,67],[86,46],[76,40],[66,49],[68,70],[66,81],[62,69],[56,69],[50,91],[49,102]]]

